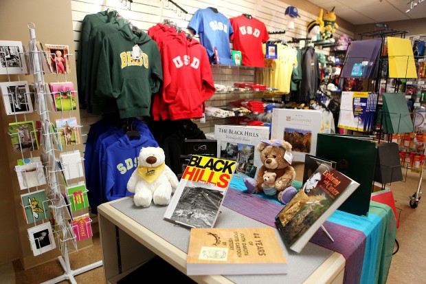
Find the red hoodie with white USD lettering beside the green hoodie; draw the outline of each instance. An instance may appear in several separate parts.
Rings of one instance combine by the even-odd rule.
[[[168,113],[161,113],[161,117],[201,118],[205,100],[216,90],[205,47],[181,32],[163,43],[162,54],[163,100],[168,104]]]

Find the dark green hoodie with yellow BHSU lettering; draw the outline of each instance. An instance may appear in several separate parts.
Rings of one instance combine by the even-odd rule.
[[[133,60],[136,44],[139,60]],[[151,95],[157,93],[163,80],[157,43],[142,30],[133,32],[125,25],[104,37],[99,52],[95,96],[100,105],[109,98],[116,102],[116,106],[102,105],[102,112],[117,108],[120,118],[149,116]],[[92,105],[93,109],[100,107],[96,100]]]

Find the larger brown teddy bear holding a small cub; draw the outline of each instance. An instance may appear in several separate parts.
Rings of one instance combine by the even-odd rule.
[[[265,182],[263,179],[265,172],[275,173],[274,187],[276,193],[273,194],[277,195],[278,200],[281,201],[282,191],[293,184],[293,179],[296,176],[293,166],[290,166],[289,162],[284,159],[286,151],[291,152],[291,144],[284,140],[262,141],[258,144],[257,149],[260,152],[260,160],[263,165],[257,173],[255,193],[263,191],[262,184]]]

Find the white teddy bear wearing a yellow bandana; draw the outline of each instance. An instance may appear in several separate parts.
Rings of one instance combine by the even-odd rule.
[[[168,205],[172,188],[179,184],[176,175],[164,162],[161,148],[145,147],[139,152],[139,166],[127,182],[127,190],[135,193],[136,206],[148,207],[151,201],[157,205]]]

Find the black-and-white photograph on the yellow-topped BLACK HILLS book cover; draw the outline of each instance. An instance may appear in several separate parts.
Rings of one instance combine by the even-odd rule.
[[[217,187],[188,181],[170,219],[193,228],[212,228],[224,197]]]

